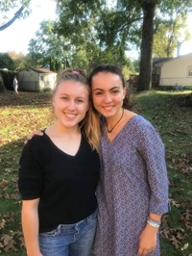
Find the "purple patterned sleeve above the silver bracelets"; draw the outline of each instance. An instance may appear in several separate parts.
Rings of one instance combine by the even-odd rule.
[[[151,213],[162,215],[168,212],[168,176],[165,162],[164,144],[156,128],[147,124],[141,131],[141,154],[146,164],[147,177],[151,190]]]

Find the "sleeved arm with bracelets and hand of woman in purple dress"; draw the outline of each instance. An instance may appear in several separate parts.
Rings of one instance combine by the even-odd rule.
[[[165,163],[164,145],[154,129],[148,127],[141,141],[141,154],[147,166],[151,191],[149,215],[155,223],[168,211],[168,177]],[[146,219],[146,226],[139,236],[138,255],[147,255],[156,249],[158,225]]]

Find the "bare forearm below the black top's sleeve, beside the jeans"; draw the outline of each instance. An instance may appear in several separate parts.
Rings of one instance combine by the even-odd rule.
[[[38,202],[39,198],[22,201],[22,228],[28,256],[42,256],[38,244]]]

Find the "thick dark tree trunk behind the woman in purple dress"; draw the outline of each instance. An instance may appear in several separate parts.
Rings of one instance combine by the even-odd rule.
[[[154,17],[156,4],[149,0],[138,1],[144,17],[142,27],[141,58],[137,90],[150,90],[152,87],[152,53],[154,42]]]

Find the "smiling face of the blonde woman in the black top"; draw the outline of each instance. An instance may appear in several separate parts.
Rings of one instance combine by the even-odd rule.
[[[87,86],[73,80],[61,81],[52,102],[58,122],[64,127],[77,127],[89,107]]]

